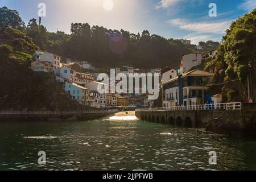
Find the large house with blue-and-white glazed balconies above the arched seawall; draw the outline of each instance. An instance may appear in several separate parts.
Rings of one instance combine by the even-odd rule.
[[[203,105],[213,73],[194,69],[163,82],[163,107]]]

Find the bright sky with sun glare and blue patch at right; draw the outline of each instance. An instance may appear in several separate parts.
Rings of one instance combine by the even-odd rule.
[[[51,32],[70,34],[71,23],[89,23],[134,34],[148,30],[192,44],[220,42],[232,21],[256,8],[256,0],[0,0],[0,7],[17,10],[28,23],[38,19],[39,3],[46,5],[42,24]],[[209,16],[210,3],[217,16]]]

